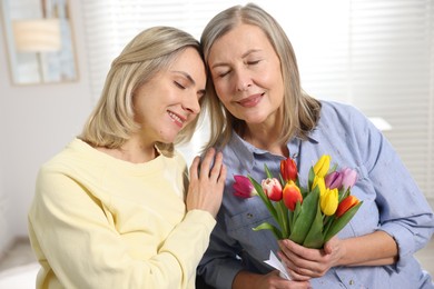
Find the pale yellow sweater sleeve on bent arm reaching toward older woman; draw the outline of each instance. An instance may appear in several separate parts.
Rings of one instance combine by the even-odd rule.
[[[216,222],[211,215],[189,211],[158,251],[134,259],[129,250],[138,240],[122,238],[109,226],[116,215],[107,212],[105,205],[72,178],[40,172],[29,210],[29,232],[43,267],[38,275],[41,287],[48,286],[41,282],[52,281],[47,278],[50,275],[66,288],[188,287]],[[146,240],[137,246],[152,248]]]

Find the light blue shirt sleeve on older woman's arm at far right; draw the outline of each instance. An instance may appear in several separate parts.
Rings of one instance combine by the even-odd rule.
[[[363,167],[376,192],[378,230],[395,239],[400,270],[408,257],[430,241],[434,231],[433,211],[392,144],[357,110],[353,113],[353,127],[357,129]]]

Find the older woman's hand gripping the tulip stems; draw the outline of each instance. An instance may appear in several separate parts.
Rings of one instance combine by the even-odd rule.
[[[279,247],[278,256],[294,280],[322,277],[345,255],[345,247],[337,237],[326,242],[324,249],[309,249],[287,239],[280,240]]]

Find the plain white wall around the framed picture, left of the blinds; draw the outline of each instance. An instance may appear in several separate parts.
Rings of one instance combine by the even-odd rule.
[[[61,84],[11,84],[0,31],[0,255],[27,235],[27,210],[39,166],[80,130],[93,104],[87,73],[81,2],[70,1],[79,80]],[[1,210],[6,202],[6,211]]]

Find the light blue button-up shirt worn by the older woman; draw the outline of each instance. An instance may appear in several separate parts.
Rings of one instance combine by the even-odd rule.
[[[338,233],[341,239],[376,230],[391,235],[398,245],[400,259],[393,266],[335,267],[325,276],[310,280],[316,288],[434,288],[413,253],[423,248],[434,231],[434,215],[424,195],[374,124],[355,108],[323,101],[320,119],[308,140],[292,139],[287,147],[296,156],[302,186],[308,170],[322,155],[329,155],[338,168],[358,173],[352,195],[363,205],[351,222]],[[234,175],[250,175],[260,181],[266,163],[278,176],[282,156],[257,149],[234,133],[221,149],[228,168],[225,196],[209,248],[198,272],[216,288],[230,288],[241,269],[267,273],[264,263],[278,246],[269,230],[253,231],[264,221],[273,222],[260,198],[234,196]]]

